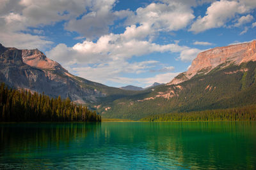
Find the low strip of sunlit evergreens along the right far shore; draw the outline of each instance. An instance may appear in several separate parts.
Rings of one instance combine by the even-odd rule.
[[[224,110],[191,111],[188,113],[166,113],[142,118],[148,122],[186,121],[256,121],[256,105]]]

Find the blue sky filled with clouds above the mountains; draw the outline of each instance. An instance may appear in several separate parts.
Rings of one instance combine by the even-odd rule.
[[[252,41],[256,0],[0,0],[0,43],[112,87],[167,83],[198,53]]]

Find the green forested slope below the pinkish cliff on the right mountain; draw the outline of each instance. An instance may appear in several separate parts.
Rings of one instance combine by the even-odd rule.
[[[104,103],[102,117],[139,120],[170,112],[236,108],[256,104],[256,62],[221,64],[177,85],[160,85],[143,94]]]

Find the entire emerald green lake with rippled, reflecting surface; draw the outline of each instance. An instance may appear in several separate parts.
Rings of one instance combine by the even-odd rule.
[[[256,124],[0,124],[0,169],[13,168],[256,169]]]

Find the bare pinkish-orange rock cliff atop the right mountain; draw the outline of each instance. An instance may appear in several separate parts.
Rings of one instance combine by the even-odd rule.
[[[189,80],[196,74],[207,74],[215,67],[220,66],[220,64],[225,67],[230,64],[240,65],[250,60],[256,60],[255,40],[250,43],[212,48],[211,50],[199,53],[188,71],[179,74],[168,85]]]

